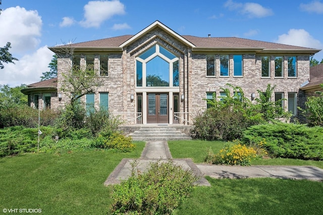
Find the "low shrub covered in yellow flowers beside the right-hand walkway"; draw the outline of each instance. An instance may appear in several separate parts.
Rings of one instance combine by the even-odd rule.
[[[256,151],[254,148],[247,147],[238,141],[233,145],[232,143],[227,145],[218,154],[213,154],[211,149],[208,149],[205,161],[209,164],[250,166],[251,160],[255,158]]]

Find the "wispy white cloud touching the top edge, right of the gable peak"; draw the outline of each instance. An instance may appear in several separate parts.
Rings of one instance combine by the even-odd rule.
[[[229,0],[224,5],[225,8],[228,8],[231,11],[238,11],[241,14],[247,15],[249,18],[261,18],[272,16],[274,12],[272,9],[264,8],[263,6],[257,3],[237,3]]]

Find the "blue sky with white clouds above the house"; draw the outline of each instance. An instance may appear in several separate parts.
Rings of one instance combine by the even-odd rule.
[[[0,8],[0,46],[10,41],[19,59],[0,70],[0,84],[12,87],[38,82],[49,71],[49,46],[136,34],[156,20],[181,35],[323,49],[323,0],[3,0]],[[314,58],[320,61],[323,52]]]

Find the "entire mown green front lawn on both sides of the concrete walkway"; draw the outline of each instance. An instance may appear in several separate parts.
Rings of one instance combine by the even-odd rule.
[[[172,141],[169,146],[174,158],[192,157],[196,163],[202,163],[209,145],[216,152],[224,144]],[[105,214],[112,202],[113,187],[104,187],[104,181],[122,158],[139,157],[143,147],[143,143],[137,143],[135,151],[130,153],[86,150],[0,158],[0,208],[41,208],[42,214]],[[279,165],[289,162],[270,160],[282,160]],[[321,214],[323,211],[321,182],[207,180],[211,186],[196,187],[175,214]]]

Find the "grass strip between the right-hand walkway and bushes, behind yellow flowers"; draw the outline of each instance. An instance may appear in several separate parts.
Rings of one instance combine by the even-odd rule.
[[[203,163],[206,157],[206,150],[211,147],[214,153],[218,153],[225,146],[224,141],[203,141],[203,140],[174,140],[168,141],[173,158],[192,158],[193,162]],[[269,158],[253,160],[251,165],[287,165],[287,166],[315,166],[323,169],[323,161],[301,160],[288,158]]]

